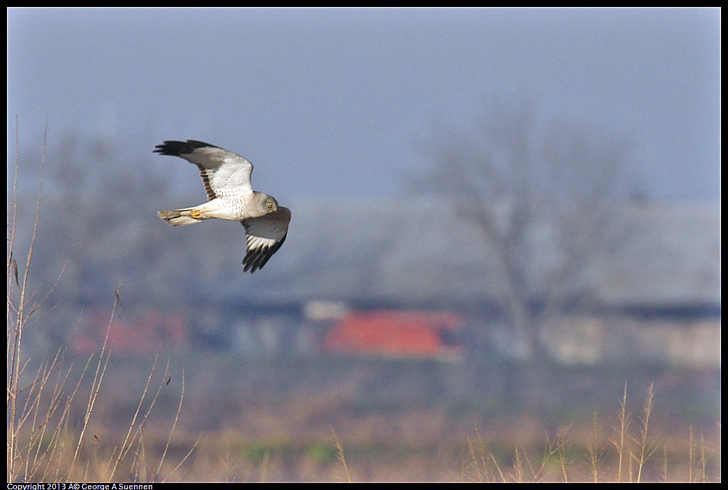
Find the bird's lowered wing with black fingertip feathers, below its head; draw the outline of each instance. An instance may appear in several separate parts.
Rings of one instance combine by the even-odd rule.
[[[286,234],[290,222],[290,209],[278,208],[275,213],[269,213],[261,218],[250,218],[240,221],[245,226],[245,235],[248,239],[248,253],[242,259],[243,272],[250,274],[263,269],[266,262],[278,251]]]

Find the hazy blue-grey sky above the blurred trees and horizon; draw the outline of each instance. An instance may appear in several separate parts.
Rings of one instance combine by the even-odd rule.
[[[504,100],[624,134],[654,197],[720,195],[719,9],[8,10],[8,142],[165,139],[284,197],[392,196]],[[60,165],[49,157],[49,165]],[[199,182],[191,169],[189,181]]]

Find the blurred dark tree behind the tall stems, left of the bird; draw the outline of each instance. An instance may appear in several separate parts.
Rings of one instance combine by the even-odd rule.
[[[149,148],[124,153],[114,141],[73,131],[58,140],[47,151],[36,280],[52,285],[63,270],[55,295],[64,305],[103,304],[119,282],[147,277],[160,250],[178,253],[173,240],[160,245],[166,230],[150,226],[170,184],[164,170],[151,165]],[[31,160],[20,167],[29,181],[39,170]],[[20,219],[26,221],[35,212],[32,191],[19,195]],[[127,299],[132,291],[127,289]]]

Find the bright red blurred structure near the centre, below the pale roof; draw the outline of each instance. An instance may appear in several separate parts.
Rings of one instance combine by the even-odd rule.
[[[328,331],[330,352],[403,357],[459,357],[456,331],[462,316],[451,312],[377,311],[352,313]]]

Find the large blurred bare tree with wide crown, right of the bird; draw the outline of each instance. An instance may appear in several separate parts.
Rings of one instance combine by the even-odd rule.
[[[585,272],[625,237],[624,206],[615,204],[625,200],[627,141],[502,107],[475,136],[432,150],[437,165],[417,186],[445,193],[480,230],[495,259],[497,303],[531,357],[552,358],[545,327],[593,296]]]

